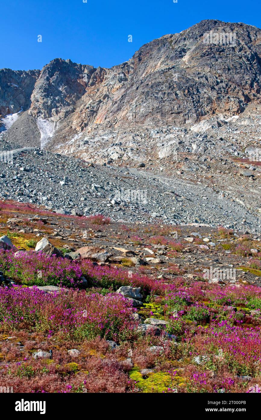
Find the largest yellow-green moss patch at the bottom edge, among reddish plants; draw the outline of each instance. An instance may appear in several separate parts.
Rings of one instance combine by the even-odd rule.
[[[147,379],[142,378],[142,374],[139,372],[139,367],[134,367],[130,372],[130,378],[136,382],[137,388],[140,388],[142,392],[163,392],[166,388],[171,386],[171,375],[165,372],[149,373]]]

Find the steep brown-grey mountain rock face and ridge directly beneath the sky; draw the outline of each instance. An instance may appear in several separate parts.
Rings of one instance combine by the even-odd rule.
[[[261,30],[207,20],[143,45],[129,61],[110,69],[62,59],[41,72],[4,69],[0,110],[6,115],[30,106],[31,117],[50,119],[52,129],[43,144],[52,131],[52,147],[82,131],[126,131],[236,115],[259,100],[260,84]],[[13,139],[17,135],[16,124]]]

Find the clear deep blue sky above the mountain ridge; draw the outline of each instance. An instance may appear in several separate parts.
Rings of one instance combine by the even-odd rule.
[[[54,58],[111,67],[203,19],[261,28],[260,0],[0,0],[0,13],[0,68],[14,70],[41,69]]]

